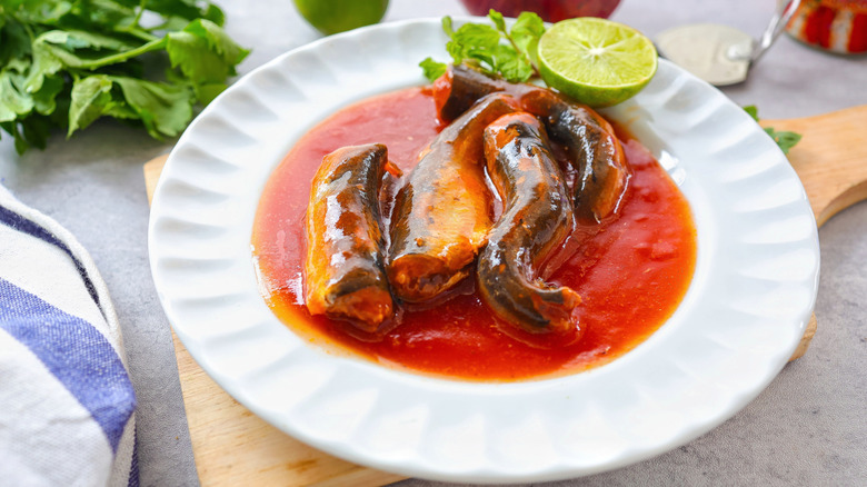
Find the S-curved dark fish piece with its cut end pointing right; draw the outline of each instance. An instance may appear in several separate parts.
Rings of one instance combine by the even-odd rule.
[[[545,129],[530,113],[504,116],[485,129],[485,156],[505,208],[477,264],[484,301],[531,334],[575,329],[578,294],[538,278],[572,229],[571,200]]]

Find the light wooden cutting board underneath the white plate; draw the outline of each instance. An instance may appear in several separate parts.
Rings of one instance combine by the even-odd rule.
[[[804,182],[819,226],[867,198],[867,105],[761,125],[804,135],[789,161]],[[144,165],[149,200],[166,159],[162,156]],[[791,360],[804,355],[815,332],[814,316]],[[172,336],[192,451],[203,486],[365,487],[403,478],[331,457],[259,419],[211,380]]]

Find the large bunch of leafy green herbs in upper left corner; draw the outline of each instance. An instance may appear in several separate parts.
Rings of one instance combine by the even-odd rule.
[[[103,116],[175,137],[248,53],[222,22],[198,0],[0,0],[0,128],[19,153]]]

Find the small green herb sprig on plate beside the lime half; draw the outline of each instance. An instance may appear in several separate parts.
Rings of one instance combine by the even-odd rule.
[[[488,13],[488,19],[494,26],[465,23],[455,30],[451,18],[442,18],[442,30],[449,37],[446,50],[452,62],[464,62],[512,82],[539,76],[536,47],[545,33],[541,18],[532,12],[522,12],[511,29],[506,27],[502,14],[496,10]],[[442,76],[447,67],[432,58],[425,59],[419,66],[430,81]]]

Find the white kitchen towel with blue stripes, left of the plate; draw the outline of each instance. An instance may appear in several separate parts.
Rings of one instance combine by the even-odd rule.
[[[93,260],[0,186],[0,485],[138,485],[134,409]]]

